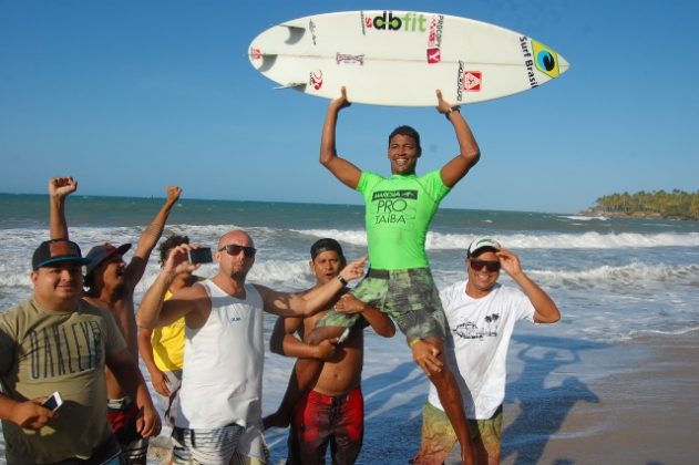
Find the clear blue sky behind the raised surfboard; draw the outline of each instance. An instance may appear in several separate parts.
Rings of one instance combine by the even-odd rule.
[[[491,22],[572,64],[530,92],[464,107],[480,164],[453,208],[576,213],[615,192],[699,189],[696,1],[0,0],[0,192],[359,204],[318,163],[328,101],[274,91],[247,59],[285,20],[346,10]],[[419,173],[456,152],[433,108],[353,105],[338,151],[389,174],[386,137],[417,127]]]

